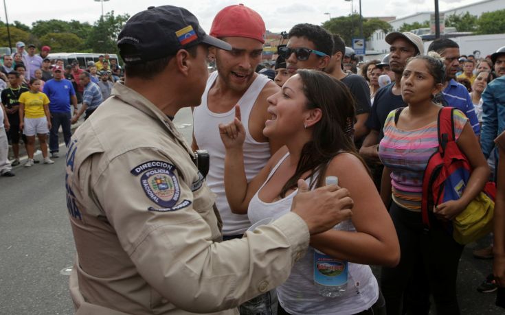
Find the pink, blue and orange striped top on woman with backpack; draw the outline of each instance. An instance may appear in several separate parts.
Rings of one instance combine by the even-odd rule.
[[[423,174],[429,157],[438,149],[437,121],[415,130],[400,130],[394,123],[395,110],[386,118],[379,157],[391,172],[392,198],[400,207],[420,211]],[[454,132],[459,139],[467,117],[454,110]]]

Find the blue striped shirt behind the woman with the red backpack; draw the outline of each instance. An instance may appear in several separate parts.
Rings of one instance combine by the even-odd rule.
[[[464,115],[467,115],[473,132],[475,132],[475,135],[480,135],[479,119],[477,118],[477,113],[475,113],[475,108],[467,88],[463,84],[451,79],[447,87],[442,91],[442,95],[444,95],[447,106],[458,108]]]

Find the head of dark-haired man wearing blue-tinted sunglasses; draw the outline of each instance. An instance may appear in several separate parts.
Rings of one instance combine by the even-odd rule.
[[[279,48],[279,54],[286,60],[289,75],[298,69],[323,70],[330,62],[333,38],[319,25],[297,24],[288,34],[286,47]]]

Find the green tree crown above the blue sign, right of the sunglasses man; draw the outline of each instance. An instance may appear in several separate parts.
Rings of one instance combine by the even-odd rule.
[[[359,14],[339,16],[324,22],[322,26],[332,34],[339,34],[346,45],[351,46],[352,38],[359,37]],[[363,18],[363,36],[365,38],[370,38],[376,30],[383,30],[387,33],[392,30],[392,27],[388,22],[379,19]]]

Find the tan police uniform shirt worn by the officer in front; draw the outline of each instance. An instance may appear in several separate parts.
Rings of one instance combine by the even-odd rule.
[[[238,314],[284,282],[308,246],[302,218],[218,243],[214,194],[172,121],[121,83],[111,96],[67,152],[77,314]]]

